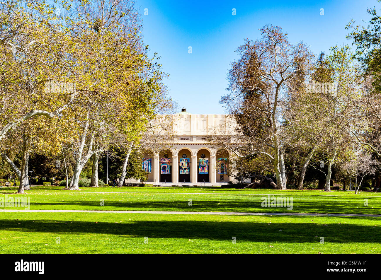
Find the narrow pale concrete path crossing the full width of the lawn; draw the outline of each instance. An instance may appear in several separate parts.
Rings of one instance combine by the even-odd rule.
[[[191,214],[191,215],[265,215],[265,216],[335,216],[377,217],[378,214],[319,214],[319,213],[255,213],[255,212],[190,212],[190,211],[122,211],[122,210],[26,210],[1,209],[0,212],[48,212],[48,213],[136,213],[136,214]]]

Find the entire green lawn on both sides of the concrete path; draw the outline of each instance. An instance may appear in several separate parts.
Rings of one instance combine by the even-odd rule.
[[[218,187],[15,191],[1,188],[0,197],[30,197],[35,210],[381,214],[381,194],[372,192]],[[267,194],[292,196],[293,210],[262,208],[261,197]],[[0,236],[0,253],[381,253],[381,218],[0,212]]]

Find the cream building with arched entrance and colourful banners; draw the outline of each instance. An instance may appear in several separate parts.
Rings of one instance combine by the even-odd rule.
[[[229,170],[229,153],[216,149],[215,145],[208,142],[208,136],[231,133],[233,122],[230,115],[197,115],[187,112],[186,109],[174,114],[173,140],[160,152],[144,154],[144,166],[147,166],[147,162],[151,164],[147,183],[166,186],[221,186],[234,181],[223,168],[225,164],[226,170]]]

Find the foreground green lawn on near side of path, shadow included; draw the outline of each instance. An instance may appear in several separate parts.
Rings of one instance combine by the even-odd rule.
[[[381,253],[379,218],[1,215],[0,253]],[[323,244],[320,237],[324,237]]]

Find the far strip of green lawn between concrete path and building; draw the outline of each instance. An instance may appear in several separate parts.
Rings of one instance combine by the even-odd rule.
[[[0,189],[0,196],[15,197],[13,189]],[[293,209],[263,208],[261,198],[271,194],[293,198]],[[34,210],[147,210],[147,211],[232,211],[274,213],[381,214],[381,194],[321,190],[240,190],[187,187],[83,188],[35,187],[26,191]],[[188,205],[192,199],[192,206]],[[364,205],[367,199],[368,205]],[[104,202],[104,206],[101,206]]]

